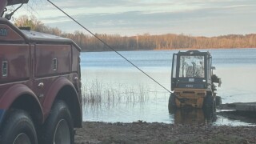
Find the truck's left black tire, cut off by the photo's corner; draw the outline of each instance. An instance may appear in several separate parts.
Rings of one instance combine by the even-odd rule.
[[[2,125],[2,144],[37,144],[38,138],[30,115],[24,110],[10,110]]]

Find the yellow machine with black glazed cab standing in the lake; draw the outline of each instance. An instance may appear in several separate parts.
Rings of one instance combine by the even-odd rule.
[[[214,110],[221,98],[216,96],[221,79],[213,74],[212,57],[209,52],[198,50],[179,51],[173,55],[169,110],[192,106]]]

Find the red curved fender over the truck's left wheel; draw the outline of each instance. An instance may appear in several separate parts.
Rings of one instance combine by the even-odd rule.
[[[38,98],[36,97],[34,92],[30,90],[29,87],[22,84],[11,86],[8,90],[6,90],[6,92],[2,95],[2,98],[0,99],[0,110],[9,110],[10,106],[14,103],[14,101],[18,98],[21,98],[22,95],[27,95],[29,98],[33,99],[33,102],[35,102],[35,107],[31,109],[36,110],[36,115],[38,118],[37,120],[39,123],[42,123],[42,107],[40,105],[40,102],[38,101]]]

